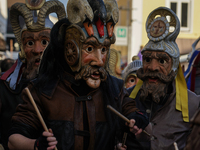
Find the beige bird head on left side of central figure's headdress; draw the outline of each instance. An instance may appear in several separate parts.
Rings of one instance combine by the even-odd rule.
[[[92,22],[94,18],[93,10],[87,0],[69,0],[67,14],[71,23],[83,23],[86,17]]]

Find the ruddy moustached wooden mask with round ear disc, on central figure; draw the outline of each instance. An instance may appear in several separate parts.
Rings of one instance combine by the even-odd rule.
[[[90,88],[96,89],[107,78],[106,64],[110,45],[113,42],[107,34],[98,38],[98,32],[86,36],[77,25],[66,29],[64,57],[75,80],[85,80]]]

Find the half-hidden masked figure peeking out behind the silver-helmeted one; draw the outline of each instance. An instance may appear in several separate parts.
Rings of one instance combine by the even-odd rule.
[[[139,78],[136,71],[142,66],[142,61],[138,56],[133,56],[132,62],[129,63],[122,72],[122,79],[126,88],[130,88],[137,84]]]

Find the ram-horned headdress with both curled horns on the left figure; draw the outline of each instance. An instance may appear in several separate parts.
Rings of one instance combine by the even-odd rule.
[[[38,13],[37,10],[39,11]],[[38,32],[44,29],[51,29],[53,23],[49,20],[48,15],[53,12],[57,14],[59,20],[66,17],[64,5],[57,0],[48,2],[45,2],[45,0],[26,0],[26,4],[15,3],[11,6],[11,25],[21,49],[19,56],[22,61],[26,58],[22,46],[22,31],[28,30],[31,32]],[[24,19],[25,24],[23,25],[23,28],[21,28],[19,24],[19,16],[22,16]]]

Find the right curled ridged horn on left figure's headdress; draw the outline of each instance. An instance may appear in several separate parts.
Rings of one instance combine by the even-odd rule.
[[[41,7],[38,13],[37,23],[44,27],[46,16],[52,12],[57,14],[59,20],[66,18],[66,12],[63,3],[60,1],[48,1]]]

